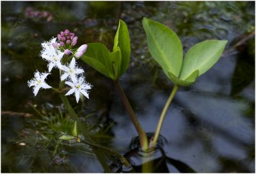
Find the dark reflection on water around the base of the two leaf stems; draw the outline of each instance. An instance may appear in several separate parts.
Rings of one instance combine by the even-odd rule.
[[[154,132],[148,132],[147,137],[148,140],[154,136]],[[129,172],[136,172],[141,173],[143,172],[142,165],[148,164],[148,166],[152,166],[151,172],[152,173],[169,173],[170,170],[168,166],[172,165],[175,167],[180,173],[196,173],[188,164],[185,164],[182,161],[172,159],[166,156],[164,152],[164,145],[166,145],[167,139],[163,136],[159,136],[157,141],[157,147],[150,152],[143,152],[139,146],[139,139],[138,136],[133,138],[130,144],[131,150],[124,154],[124,157],[129,160],[132,165],[132,168],[124,168],[122,165],[113,164],[117,169],[115,172],[122,172],[122,173],[129,173]],[[112,167],[113,167],[112,166]],[[114,167],[113,167],[114,168]],[[132,171],[134,170],[134,171]]]

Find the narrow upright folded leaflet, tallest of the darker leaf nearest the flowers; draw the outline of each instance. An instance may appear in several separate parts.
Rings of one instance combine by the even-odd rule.
[[[120,74],[124,74],[129,66],[130,54],[131,54],[131,43],[129,37],[129,30],[123,20],[119,20],[118,29],[116,31],[113,52],[118,51],[118,47],[122,52],[122,61],[120,67]]]

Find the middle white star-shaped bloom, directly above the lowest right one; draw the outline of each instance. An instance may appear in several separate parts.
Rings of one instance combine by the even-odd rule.
[[[76,81],[76,78],[77,78],[76,75],[84,72],[83,69],[77,68],[75,58],[72,58],[68,67],[64,67],[63,69],[64,69],[65,73],[63,75],[61,75],[61,78],[60,78],[61,81],[67,79],[68,76],[70,76],[72,81]]]

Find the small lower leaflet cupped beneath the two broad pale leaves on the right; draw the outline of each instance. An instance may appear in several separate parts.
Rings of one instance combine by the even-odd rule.
[[[172,72],[168,72],[168,74],[169,74],[168,77],[173,81],[173,83],[179,84],[180,86],[189,86],[195,83],[198,77],[199,71],[196,70],[195,72],[193,72],[186,80],[179,79],[174,74],[172,74]]]

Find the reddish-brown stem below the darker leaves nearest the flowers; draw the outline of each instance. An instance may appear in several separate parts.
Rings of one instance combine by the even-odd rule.
[[[138,118],[136,117],[132,107],[131,107],[131,104],[129,102],[129,100],[127,99],[123,89],[122,89],[122,86],[120,85],[119,81],[115,81],[115,86],[116,86],[116,89],[124,103],[124,106],[125,106],[125,109],[127,111],[127,113],[129,113],[129,116],[132,120],[132,123],[136,129],[136,131],[138,132],[139,134],[139,139],[140,139],[140,146],[141,146],[141,149],[142,150],[147,150],[148,149],[148,139],[147,139],[147,135],[146,133],[143,131],[139,121],[138,121]]]

